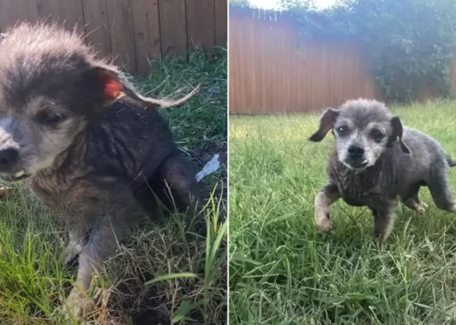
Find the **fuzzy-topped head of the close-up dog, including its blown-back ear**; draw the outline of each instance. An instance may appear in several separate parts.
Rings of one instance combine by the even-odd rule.
[[[51,167],[118,97],[148,107],[175,102],[137,93],[75,32],[19,24],[0,39],[0,178],[17,181]]]

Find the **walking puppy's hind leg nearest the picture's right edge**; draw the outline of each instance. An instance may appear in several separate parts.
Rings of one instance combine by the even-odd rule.
[[[441,210],[456,213],[455,200],[451,193],[450,181],[448,180],[448,167],[435,166],[428,182],[428,187],[435,205]]]

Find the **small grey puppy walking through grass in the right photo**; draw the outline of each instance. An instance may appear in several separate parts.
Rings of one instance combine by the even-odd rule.
[[[418,198],[421,186],[429,187],[439,209],[456,213],[448,180],[448,167],[456,164],[436,140],[403,127],[383,103],[350,100],[340,109],[327,109],[310,140],[321,141],[330,130],[336,150],[327,165],[327,183],[315,198],[320,232],[331,232],[329,207],[343,198],[372,210],[374,235],[384,240],[395,223],[397,196],[412,210],[426,209]]]

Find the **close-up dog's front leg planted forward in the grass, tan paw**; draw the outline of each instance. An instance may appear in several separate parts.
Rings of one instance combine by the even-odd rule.
[[[120,180],[111,178],[84,180],[68,194],[75,214],[85,214],[91,221],[87,243],[79,254],[75,287],[66,299],[68,312],[76,319],[93,308],[87,295],[93,275],[102,269],[108,254],[116,247],[127,221],[134,222],[141,215],[128,185],[119,183]]]

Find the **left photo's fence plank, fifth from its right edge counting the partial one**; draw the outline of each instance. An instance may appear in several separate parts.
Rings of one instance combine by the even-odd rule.
[[[108,0],[111,53],[115,63],[123,65],[129,72],[136,71],[135,33],[130,0]]]

